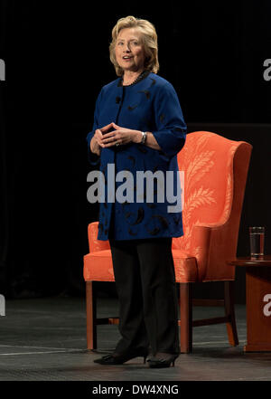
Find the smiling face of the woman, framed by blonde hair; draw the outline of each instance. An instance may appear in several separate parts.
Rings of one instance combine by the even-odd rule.
[[[115,52],[117,63],[124,71],[144,69],[145,52],[138,29],[122,29],[117,36]]]

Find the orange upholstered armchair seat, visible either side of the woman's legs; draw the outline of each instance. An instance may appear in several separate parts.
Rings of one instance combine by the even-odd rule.
[[[175,277],[177,282],[197,280],[197,260],[188,252],[173,250]],[[110,250],[91,252],[84,256],[84,279],[95,281],[115,281]]]

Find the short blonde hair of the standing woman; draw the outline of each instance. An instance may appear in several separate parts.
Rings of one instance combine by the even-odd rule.
[[[116,60],[115,47],[118,33],[125,28],[138,28],[141,33],[141,40],[145,50],[145,70],[157,73],[159,70],[158,62],[158,43],[157,33],[154,25],[145,19],[135,18],[135,16],[126,16],[120,18],[112,30],[112,42],[109,45],[110,61],[115,67],[117,76],[123,75],[123,69]]]

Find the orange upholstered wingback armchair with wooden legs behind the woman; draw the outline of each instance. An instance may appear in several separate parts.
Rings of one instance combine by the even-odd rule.
[[[226,323],[230,345],[238,345],[233,282],[238,230],[252,146],[222,136],[197,131],[187,135],[178,154],[184,174],[183,236],[173,238],[176,283],[180,284],[181,352],[192,351],[192,328]],[[109,242],[97,240],[98,222],[89,223],[89,254],[84,256],[88,348],[97,347],[97,325],[117,324],[118,318],[96,317],[93,281],[114,281]],[[225,316],[192,319],[192,283],[224,281]],[[215,304],[219,302],[216,301]],[[200,302],[204,304],[204,301]],[[207,300],[205,304],[210,305]]]

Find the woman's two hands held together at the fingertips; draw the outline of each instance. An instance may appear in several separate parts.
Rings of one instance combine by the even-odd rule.
[[[108,132],[111,128],[115,128],[115,130]],[[107,148],[116,146],[116,144],[124,145],[130,142],[140,143],[141,132],[131,128],[122,128],[117,126],[116,123],[111,122],[104,128],[98,128],[93,138],[99,147]],[[95,147],[98,149],[97,146]]]

